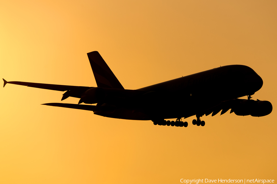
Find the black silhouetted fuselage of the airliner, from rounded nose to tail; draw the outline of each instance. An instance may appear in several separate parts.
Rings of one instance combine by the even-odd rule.
[[[148,93],[139,101],[130,98],[113,112],[94,113],[135,120],[186,118],[221,102],[253,95],[262,85],[263,80],[250,67],[229,65],[140,88]]]

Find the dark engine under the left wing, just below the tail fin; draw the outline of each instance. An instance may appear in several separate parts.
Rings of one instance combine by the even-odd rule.
[[[101,87],[93,87],[88,90],[82,95],[79,103],[86,103],[86,104],[95,104],[98,102],[102,102],[105,99],[105,91]]]

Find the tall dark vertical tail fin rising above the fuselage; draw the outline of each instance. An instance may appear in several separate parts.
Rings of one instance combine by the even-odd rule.
[[[89,52],[87,56],[98,87],[124,89],[99,52]]]

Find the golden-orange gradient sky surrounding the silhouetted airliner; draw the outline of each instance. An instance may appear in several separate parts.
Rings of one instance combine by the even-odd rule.
[[[1,1],[7,81],[96,86],[91,51],[125,89],[242,64],[263,79],[253,99],[270,101],[273,111],[203,116],[204,127],[192,125],[195,117],[187,128],[155,126],[40,105],[60,102],[63,92],[7,84],[0,89],[0,183],[276,181],[276,10],[276,1],[254,0]]]

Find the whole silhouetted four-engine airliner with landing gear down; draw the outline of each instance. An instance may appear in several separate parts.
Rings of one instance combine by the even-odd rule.
[[[80,98],[78,104],[46,103],[57,107],[83,109],[94,114],[128,120],[151,120],[154,125],[187,127],[182,118],[196,116],[193,125],[204,126],[203,115],[226,113],[239,116],[266,116],[271,113],[268,101],[251,100],[263,86],[262,78],[250,67],[228,65],[193,75],[126,90],[97,51],[87,53],[97,87],[66,86],[33,82],[7,82],[48,90],[66,91],[68,97]],[[247,96],[247,99],[240,97]],[[96,105],[83,105],[96,104]],[[166,119],[176,118],[176,121]]]

